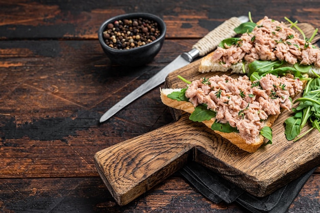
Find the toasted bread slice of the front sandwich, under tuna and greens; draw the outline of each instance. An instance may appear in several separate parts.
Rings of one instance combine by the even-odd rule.
[[[168,94],[172,93],[173,91],[180,91],[181,88],[178,89],[171,89],[171,88],[165,88],[165,89],[160,89],[161,93],[161,100],[162,102],[172,108],[179,109],[188,113],[192,113],[194,111],[194,106],[190,102],[186,101],[177,101],[168,98]],[[270,115],[268,116],[268,119],[265,123],[265,126],[271,127],[273,123],[277,120],[279,115]],[[215,118],[212,118],[209,121],[203,121],[202,123],[205,124],[207,127],[211,128],[212,124],[215,122]],[[245,139],[243,139],[239,133],[237,132],[231,132],[231,133],[225,133],[225,132],[220,132],[213,130],[215,133],[221,135],[223,138],[229,140],[232,144],[236,145],[240,149],[254,153],[257,151],[259,147],[261,147],[264,144],[264,137],[259,134],[259,136],[256,138],[255,143],[252,144],[247,144]]]

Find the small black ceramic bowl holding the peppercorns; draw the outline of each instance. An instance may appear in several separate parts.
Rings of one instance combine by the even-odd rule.
[[[117,50],[110,48],[103,38],[103,32],[107,29],[109,23],[114,23],[116,20],[144,18],[157,22],[157,28],[160,30],[161,35],[150,43],[141,45],[136,48],[128,50]],[[116,63],[124,66],[141,66],[147,64],[153,60],[157,53],[161,50],[166,35],[165,22],[149,13],[129,13],[124,15],[115,16],[106,20],[99,28],[98,37],[101,47],[105,54],[109,57],[112,63]]]

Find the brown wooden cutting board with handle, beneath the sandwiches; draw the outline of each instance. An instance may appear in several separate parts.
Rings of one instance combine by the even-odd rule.
[[[305,23],[300,28],[307,37],[314,30]],[[222,74],[198,73],[199,63],[200,60],[195,61],[171,73],[166,87],[186,87],[177,75],[192,81]],[[240,150],[202,123],[190,121],[186,113],[172,109],[172,114],[176,122],[95,154],[98,173],[119,205],[150,190],[188,160],[203,164],[258,197],[272,193],[320,164],[318,131],[296,142],[286,139],[284,121],[291,115],[288,111],[272,126],[272,145],[255,153]]]

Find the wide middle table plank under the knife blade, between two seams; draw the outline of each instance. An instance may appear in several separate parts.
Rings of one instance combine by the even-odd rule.
[[[110,66],[97,41],[2,41],[0,176],[96,177],[97,151],[172,121],[158,88],[98,125],[102,113],[190,43],[168,40],[138,69]]]

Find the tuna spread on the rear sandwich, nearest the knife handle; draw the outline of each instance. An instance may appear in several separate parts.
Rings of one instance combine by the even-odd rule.
[[[299,62],[320,67],[320,50],[299,38],[299,34],[283,22],[265,16],[252,32],[242,34],[237,44],[218,47],[212,60],[225,67],[243,60],[284,60],[289,64]]]

